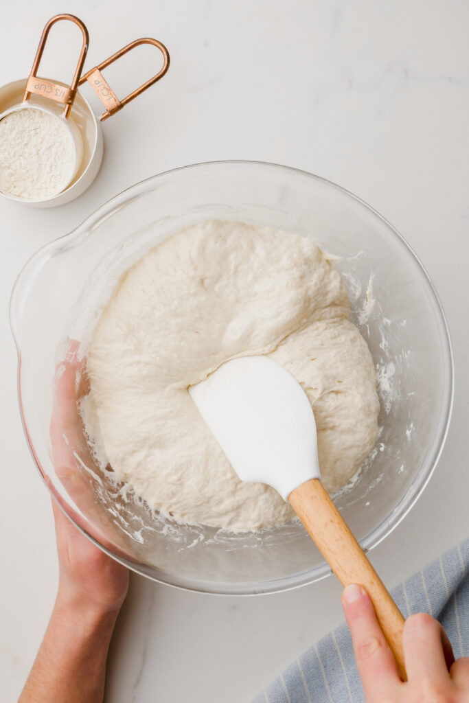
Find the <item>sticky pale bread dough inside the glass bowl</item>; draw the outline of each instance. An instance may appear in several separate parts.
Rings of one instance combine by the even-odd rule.
[[[378,433],[371,354],[345,285],[311,240],[231,221],[194,224],[120,280],[88,353],[89,433],[118,481],[176,520],[234,531],[286,522],[274,489],[240,482],[188,386],[269,354],[307,392],[323,484],[354,475]]]

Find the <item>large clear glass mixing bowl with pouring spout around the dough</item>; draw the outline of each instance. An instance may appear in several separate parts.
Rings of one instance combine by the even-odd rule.
[[[281,591],[330,573],[299,523],[232,534],[151,514],[93,464],[79,436],[75,399],[65,420],[57,420],[55,405],[64,451],[51,458],[56,364],[60,377],[61,359],[75,363],[86,355],[123,271],[162,239],[208,218],[283,229],[332,255],[349,290],[352,321],[371,349],[381,401],[378,444],[334,499],[365,550],[390,534],[430,479],[446,437],[453,394],[448,329],[427,273],[397,231],[354,195],[311,174],[257,162],[176,169],[117,195],[34,254],[11,299],[21,413],[51,494],[111,556],[194,591]],[[70,340],[79,341],[77,355]]]

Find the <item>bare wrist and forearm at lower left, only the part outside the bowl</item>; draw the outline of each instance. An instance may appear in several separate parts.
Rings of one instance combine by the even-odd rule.
[[[18,703],[102,703],[108,647],[129,572],[53,503],[59,561],[56,604]]]

